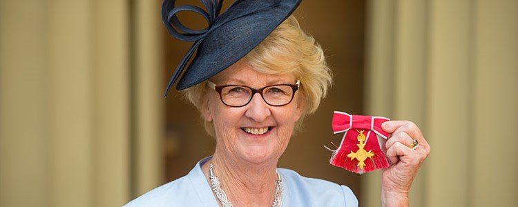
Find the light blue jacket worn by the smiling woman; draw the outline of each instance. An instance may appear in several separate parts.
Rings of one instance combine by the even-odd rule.
[[[186,176],[149,191],[125,207],[218,206],[201,168],[210,158],[198,161]],[[277,172],[282,177],[282,206],[358,206],[347,186],[303,177],[294,170],[278,168]]]

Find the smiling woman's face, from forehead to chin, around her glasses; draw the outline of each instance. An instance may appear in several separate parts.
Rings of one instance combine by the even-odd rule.
[[[294,84],[294,75],[267,75],[253,70],[238,61],[211,79],[216,85],[243,85],[262,88],[274,84]],[[277,161],[286,149],[295,121],[300,118],[303,101],[299,92],[285,106],[269,106],[259,93],[242,107],[224,105],[220,95],[209,89],[208,104],[203,110],[204,119],[212,121],[215,128],[217,152],[233,159],[262,163]]]

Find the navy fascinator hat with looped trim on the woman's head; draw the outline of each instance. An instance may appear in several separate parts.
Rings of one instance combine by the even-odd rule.
[[[175,0],[162,2],[162,21],[169,34],[193,42],[173,72],[164,97],[184,68],[177,90],[201,83],[236,63],[287,19],[301,0],[236,0],[222,14],[222,0],[200,1],[206,10],[192,5],[175,6]],[[176,16],[182,11],[202,15],[209,26],[201,30],[184,26]],[[191,64],[186,66],[191,57]]]

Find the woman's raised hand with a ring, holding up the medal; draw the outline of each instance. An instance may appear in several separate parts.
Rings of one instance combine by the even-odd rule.
[[[408,206],[408,193],[412,181],[423,161],[430,155],[430,145],[421,130],[411,121],[387,121],[381,126],[392,135],[385,144],[392,166],[381,175],[381,200],[383,206]],[[410,148],[413,139],[417,148]]]

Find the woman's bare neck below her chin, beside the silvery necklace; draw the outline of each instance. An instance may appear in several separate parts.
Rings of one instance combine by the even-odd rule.
[[[209,183],[210,162],[233,206],[271,206],[274,202],[277,160],[254,164],[216,149],[211,161],[202,166]]]

